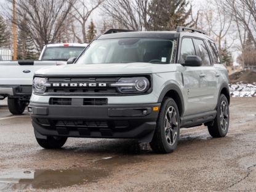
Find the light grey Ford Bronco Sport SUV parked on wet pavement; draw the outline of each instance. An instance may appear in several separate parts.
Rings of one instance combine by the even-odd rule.
[[[60,148],[68,137],[137,138],[171,153],[180,128],[228,132],[228,73],[204,31],[112,29],[73,62],[34,74],[28,111],[43,148]]]

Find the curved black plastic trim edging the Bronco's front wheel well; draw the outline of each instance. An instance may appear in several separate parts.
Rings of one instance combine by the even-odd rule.
[[[180,118],[183,116],[185,107],[184,107],[184,99],[183,99],[183,95],[182,95],[182,91],[180,90],[180,87],[178,87],[176,84],[167,84],[166,87],[164,87],[164,89],[162,90],[161,94],[159,95],[158,98],[158,103],[161,103],[164,96],[167,94],[167,92],[169,92],[170,90],[174,90],[175,92],[177,92],[178,94],[178,100],[179,103],[176,103],[178,108],[182,108],[182,111],[179,111],[180,113]]]

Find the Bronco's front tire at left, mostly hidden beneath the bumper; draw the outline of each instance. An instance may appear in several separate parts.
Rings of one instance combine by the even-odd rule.
[[[38,144],[45,149],[58,149],[61,148],[68,137],[51,137],[47,136],[47,139],[36,138]]]

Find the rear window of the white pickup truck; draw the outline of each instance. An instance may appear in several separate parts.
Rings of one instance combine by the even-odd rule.
[[[67,61],[71,57],[78,57],[85,47],[46,47],[41,60]]]

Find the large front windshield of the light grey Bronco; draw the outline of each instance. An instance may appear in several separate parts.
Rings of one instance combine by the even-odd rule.
[[[123,38],[96,40],[79,57],[83,64],[94,63],[170,63],[174,40]]]

